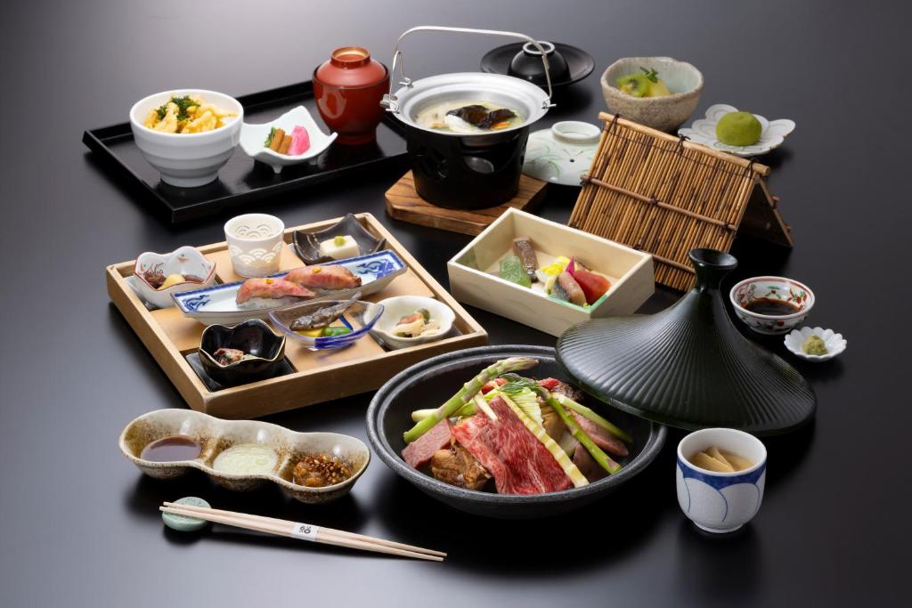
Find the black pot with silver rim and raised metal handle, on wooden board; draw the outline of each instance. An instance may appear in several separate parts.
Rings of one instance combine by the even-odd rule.
[[[512,32],[437,26],[414,27],[399,36],[399,42],[420,30],[519,37],[538,45],[532,38]],[[451,209],[483,209],[511,200],[519,190],[529,127],[552,107],[550,92],[520,78],[481,72],[440,74],[415,81],[404,75],[396,79],[396,66],[401,70],[399,42],[390,73],[403,86],[386,96],[381,105],[405,125],[419,196]],[[547,74],[544,57],[543,62]],[[481,133],[442,131],[418,124],[416,117],[422,110],[448,101],[490,102],[513,109],[523,122],[509,129]]]

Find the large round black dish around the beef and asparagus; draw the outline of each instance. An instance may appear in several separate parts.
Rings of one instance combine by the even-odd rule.
[[[665,442],[665,427],[590,402],[590,407],[596,407],[612,422],[630,433],[634,442],[629,446],[630,455],[620,460],[624,467],[620,472],[582,488],[534,496],[503,495],[457,488],[409,467],[399,454],[405,447],[402,433],[412,425],[412,410],[438,407],[482,368],[508,356],[537,358],[540,363],[529,370],[530,376],[562,377],[554,361],[554,349],[544,346],[479,346],[422,361],[393,376],[370,402],[368,438],[380,459],[421,491],[455,509],[484,517],[529,519],[559,515],[601,499],[646,469],[658,456]]]

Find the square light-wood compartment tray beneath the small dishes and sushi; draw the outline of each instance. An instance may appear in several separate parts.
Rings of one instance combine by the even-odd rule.
[[[385,238],[386,248],[396,252],[408,266],[408,270],[393,279],[386,288],[364,299],[377,302],[394,295],[436,298],[450,306],[456,314],[454,335],[430,344],[399,350],[386,350],[370,335],[346,348],[316,352],[292,344],[289,340],[285,345],[285,375],[210,390],[187,359],[187,356],[199,349],[204,325],[185,317],[174,306],[157,310],[147,308],[126,281],[133,273],[135,261],[108,266],[108,294],[188,405],[217,417],[260,417],[356,395],[382,386],[391,376],[430,356],[487,344],[488,335],[482,326],[447,294],[440,283],[421,267],[373,215],[361,213],[357,217],[369,232]],[[319,230],[338,220],[339,218],[286,229],[281,270],[304,265],[290,244],[293,232],[301,229]],[[204,245],[198,249],[215,263],[218,283],[242,279],[233,272],[225,242]]]

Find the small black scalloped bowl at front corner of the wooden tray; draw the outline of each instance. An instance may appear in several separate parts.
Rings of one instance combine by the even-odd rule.
[[[219,348],[238,348],[253,355],[228,366],[215,361]],[[276,335],[260,319],[247,319],[233,327],[209,325],[202,330],[200,361],[206,374],[224,386],[236,386],[272,377],[285,356],[285,336]]]

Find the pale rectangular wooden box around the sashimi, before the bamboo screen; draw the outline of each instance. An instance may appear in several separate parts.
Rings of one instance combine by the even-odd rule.
[[[511,251],[513,239],[520,236],[532,240],[539,263],[559,255],[576,258],[605,274],[610,289],[596,303],[583,307],[500,278],[500,261]],[[517,209],[503,213],[457,253],[447,269],[451,292],[460,302],[551,335],[561,335],[570,325],[587,319],[633,314],[655,291],[648,253]]]

